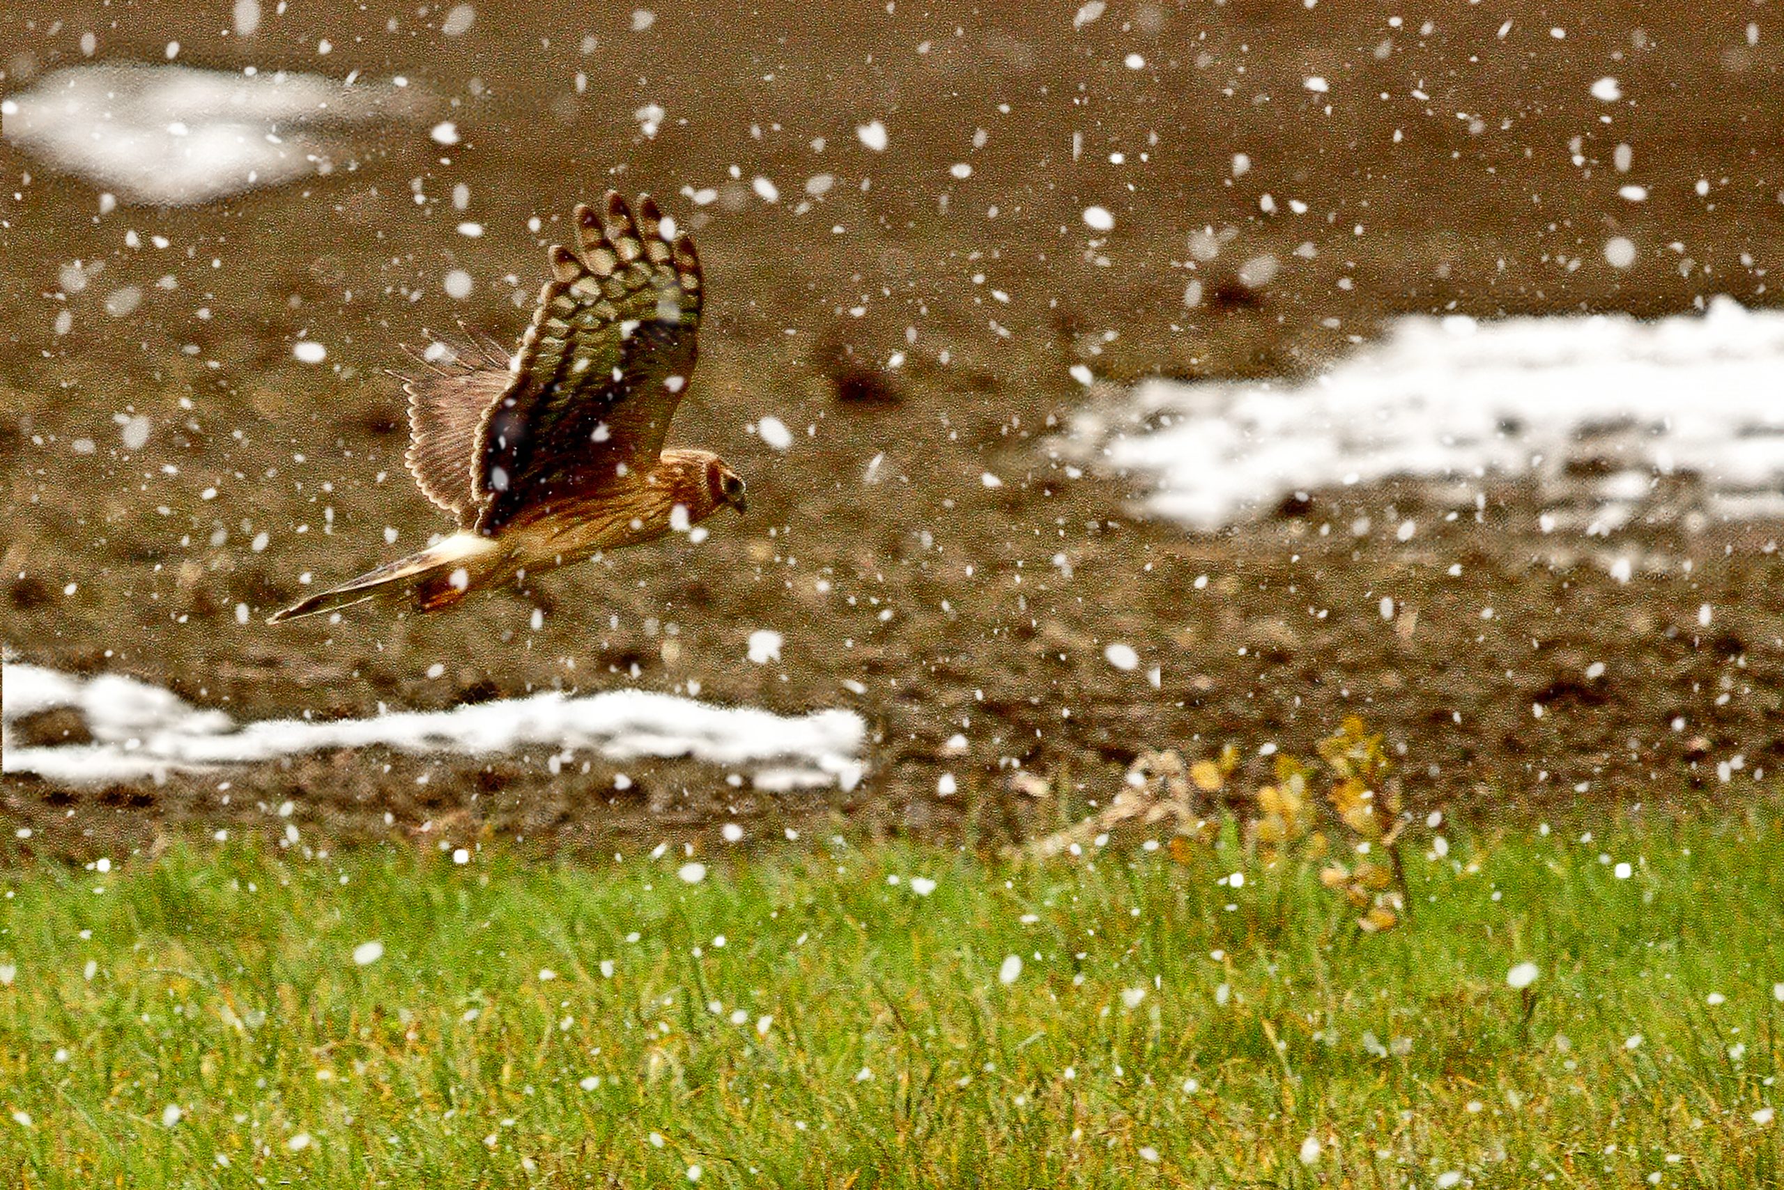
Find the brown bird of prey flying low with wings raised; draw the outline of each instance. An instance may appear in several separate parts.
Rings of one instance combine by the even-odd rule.
[[[582,562],[744,512],[744,482],[705,450],[664,450],[694,371],[701,275],[694,241],[657,203],[608,191],[576,207],[578,250],[553,244],[551,280],[514,359],[417,359],[405,380],[409,471],[458,521],[451,537],[312,594],[268,623],[371,598],[437,612],[528,571]]]

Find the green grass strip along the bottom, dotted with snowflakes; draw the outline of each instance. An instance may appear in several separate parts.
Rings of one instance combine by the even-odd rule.
[[[1779,1185],[1777,822],[1427,846],[14,867],[0,1183]]]

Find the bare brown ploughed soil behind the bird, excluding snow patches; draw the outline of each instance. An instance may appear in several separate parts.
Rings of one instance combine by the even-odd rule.
[[[18,658],[130,673],[239,719],[698,680],[705,698],[783,712],[856,707],[874,746],[869,778],[828,796],[758,796],[692,764],[553,774],[542,755],[319,755],[164,785],[9,776],[0,815],[52,853],[277,835],[287,801],[309,844],[414,831],[607,847],[837,815],[953,839],[1051,824],[1106,796],[1147,746],[1309,753],[1352,712],[1404,749],[1416,805],[1477,815],[1714,803],[1779,764],[1775,525],[1632,525],[1615,546],[1645,571],[1620,585],[1602,546],[1540,533],[1518,485],[1454,521],[1429,492],[1384,485],[1197,535],[1140,517],[1124,476],[1069,478],[1053,441],[1079,403],[1111,400],[1069,376],[1076,362],[1117,382],[1302,371],[1402,312],[1770,302],[1784,30],[1763,9],[1449,5],[1425,30],[1425,11],[1393,27],[1350,0],[1119,2],[1074,32],[1070,5],[1006,7],[960,23],[904,2],[844,20],[772,0],[664,11],[635,34],[619,9],[591,21],[569,5],[478,5],[471,34],[442,39],[426,29],[439,12],[405,11],[387,32],[382,9],[328,0],[269,14],[243,43],[218,36],[214,12],[9,4],[9,89],[80,61],[93,29],[100,57],[161,59],[178,39],[196,64],[405,73],[458,105],[466,137],[428,153],[392,134],[307,186],[102,218],[93,189],[0,145],[0,608]],[[1309,75],[1329,93],[1306,89]],[[1602,75],[1623,102],[1591,98]],[[633,118],[649,102],[667,109],[655,139]],[[885,153],[855,136],[874,118]],[[1627,175],[1620,143],[1634,148]],[[1238,152],[1252,166],[1233,178]],[[954,162],[972,175],[951,177]],[[796,212],[817,173],[833,189]],[[749,191],[755,175],[780,203]],[[1618,196],[1631,180],[1647,202]],[[450,202],[458,182],[466,212]],[[624,551],[446,616],[264,626],[300,573],[344,578],[446,528],[401,469],[403,401],[380,369],[401,362],[398,341],[453,318],[517,332],[541,244],[607,186],[664,196],[699,234],[710,316],[674,437],[749,476],[749,517],[715,521],[699,548]],[[681,186],[719,200],[694,209]],[[1090,203],[1117,219],[1101,243],[1079,219]],[[533,214],[548,219],[537,236]],[[464,218],[485,236],[457,236]],[[1235,237],[1192,269],[1188,236],[1204,227]],[[127,230],[145,248],[125,248]],[[1604,262],[1613,234],[1638,244],[1634,268]],[[1302,243],[1317,255],[1293,255]],[[1281,275],[1243,287],[1238,264],[1265,252]],[[64,300],[59,268],[77,259],[105,271]],[[441,291],[450,268],[476,278],[469,302]],[[1192,278],[1206,296],[1185,309]],[[123,284],[148,296],[112,319],[103,294]],[[64,305],[75,323],[59,337]],[[300,332],[330,346],[328,366],[293,360]],[[906,362],[885,371],[894,351]],[[771,412],[796,430],[785,453],[744,432]],[[118,414],[152,419],[143,450],[123,448]],[[1370,528],[1354,533],[1359,517]],[[1404,544],[1402,517],[1422,526]],[[1411,630],[1404,612],[1383,621],[1384,594],[1416,610]],[[780,665],[742,660],[762,626],[787,635]],[[1140,669],[1110,667],[1111,640]],[[435,662],[446,671],[430,680]],[[32,724],[34,739],[80,731]],[[946,755],[956,731],[967,751]],[[1725,785],[1718,764],[1736,755],[1745,769]],[[1013,765],[1065,797],[1010,794]],[[624,792],[619,767],[635,781]],[[958,781],[949,797],[942,773]]]

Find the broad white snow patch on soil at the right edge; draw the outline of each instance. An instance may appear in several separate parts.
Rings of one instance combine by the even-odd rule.
[[[1691,475],[1711,516],[1784,516],[1784,312],[1406,318],[1304,382],[1149,380],[1072,441],[1151,473],[1154,514],[1215,530],[1390,476],[1531,476],[1561,526],[1609,533]]]

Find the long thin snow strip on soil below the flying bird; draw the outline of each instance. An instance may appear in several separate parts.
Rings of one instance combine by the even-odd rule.
[[[16,723],[62,707],[80,712],[91,744],[14,748]],[[219,710],[194,708],[134,678],[77,678],[23,664],[0,671],[0,724],[5,773],[36,773],[68,783],[162,780],[168,773],[375,744],[471,756],[544,744],[592,749],[615,760],[692,756],[747,771],[756,789],[772,792],[853,789],[862,778],[867,737],[865,723],[853,710],[787,717],[648,690],[546,692],[371,719],[237,724]]]

